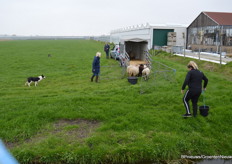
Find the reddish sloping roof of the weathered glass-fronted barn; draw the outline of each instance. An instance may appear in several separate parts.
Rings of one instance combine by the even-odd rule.
[[[232,13],[225,12],[203,12],[218,25],[232,25]]]

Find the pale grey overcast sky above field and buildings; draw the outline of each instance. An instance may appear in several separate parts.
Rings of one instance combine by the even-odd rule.
[[[0,0],[0,35],[86,36],[140,24],[189,25],[232,0]]]

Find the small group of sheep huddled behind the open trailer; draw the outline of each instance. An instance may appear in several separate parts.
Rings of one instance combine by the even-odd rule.
[[[147,65],[129,65],[127,67],[127,73],[128,76],[132,77],[132,76],[139,76],[139,77],[143,77],[144,80],[148,80],[149,74],[150,74],[151,70]]]

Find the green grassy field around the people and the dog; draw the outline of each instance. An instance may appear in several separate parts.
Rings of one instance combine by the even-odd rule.
[[[208,117],[183,119],[181,86],[190,59],[153,55],[174,69],[140,94],[88,40],[0,42],[0,138],[20,163],[172,162],[181,155],[232,155],[232,65],[198,62],[209,79]],[[90,82],[102,52],[100,83]],[[48,57],[52,54],[52,57]],[[112,66],[112,67],[109,67]],[[44,74],[37,87],[28,76]],[[148,90],[147,90],[148,89]],[[202,105],[202,97],[198,105]]]

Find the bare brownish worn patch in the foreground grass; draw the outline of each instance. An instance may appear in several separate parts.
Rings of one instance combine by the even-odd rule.
[[[96,120],[59,120],[52,124],[49,128],[41,130],[35,136],[19,142],[7,142],[6,147],[11,149],[21,144],[33,144],[43,142],[49,137],[55,136],[62,138],[68,143],[78,142],[83,143],[85,138],[91,136],[91,134],[100,126],[100,122]]]

